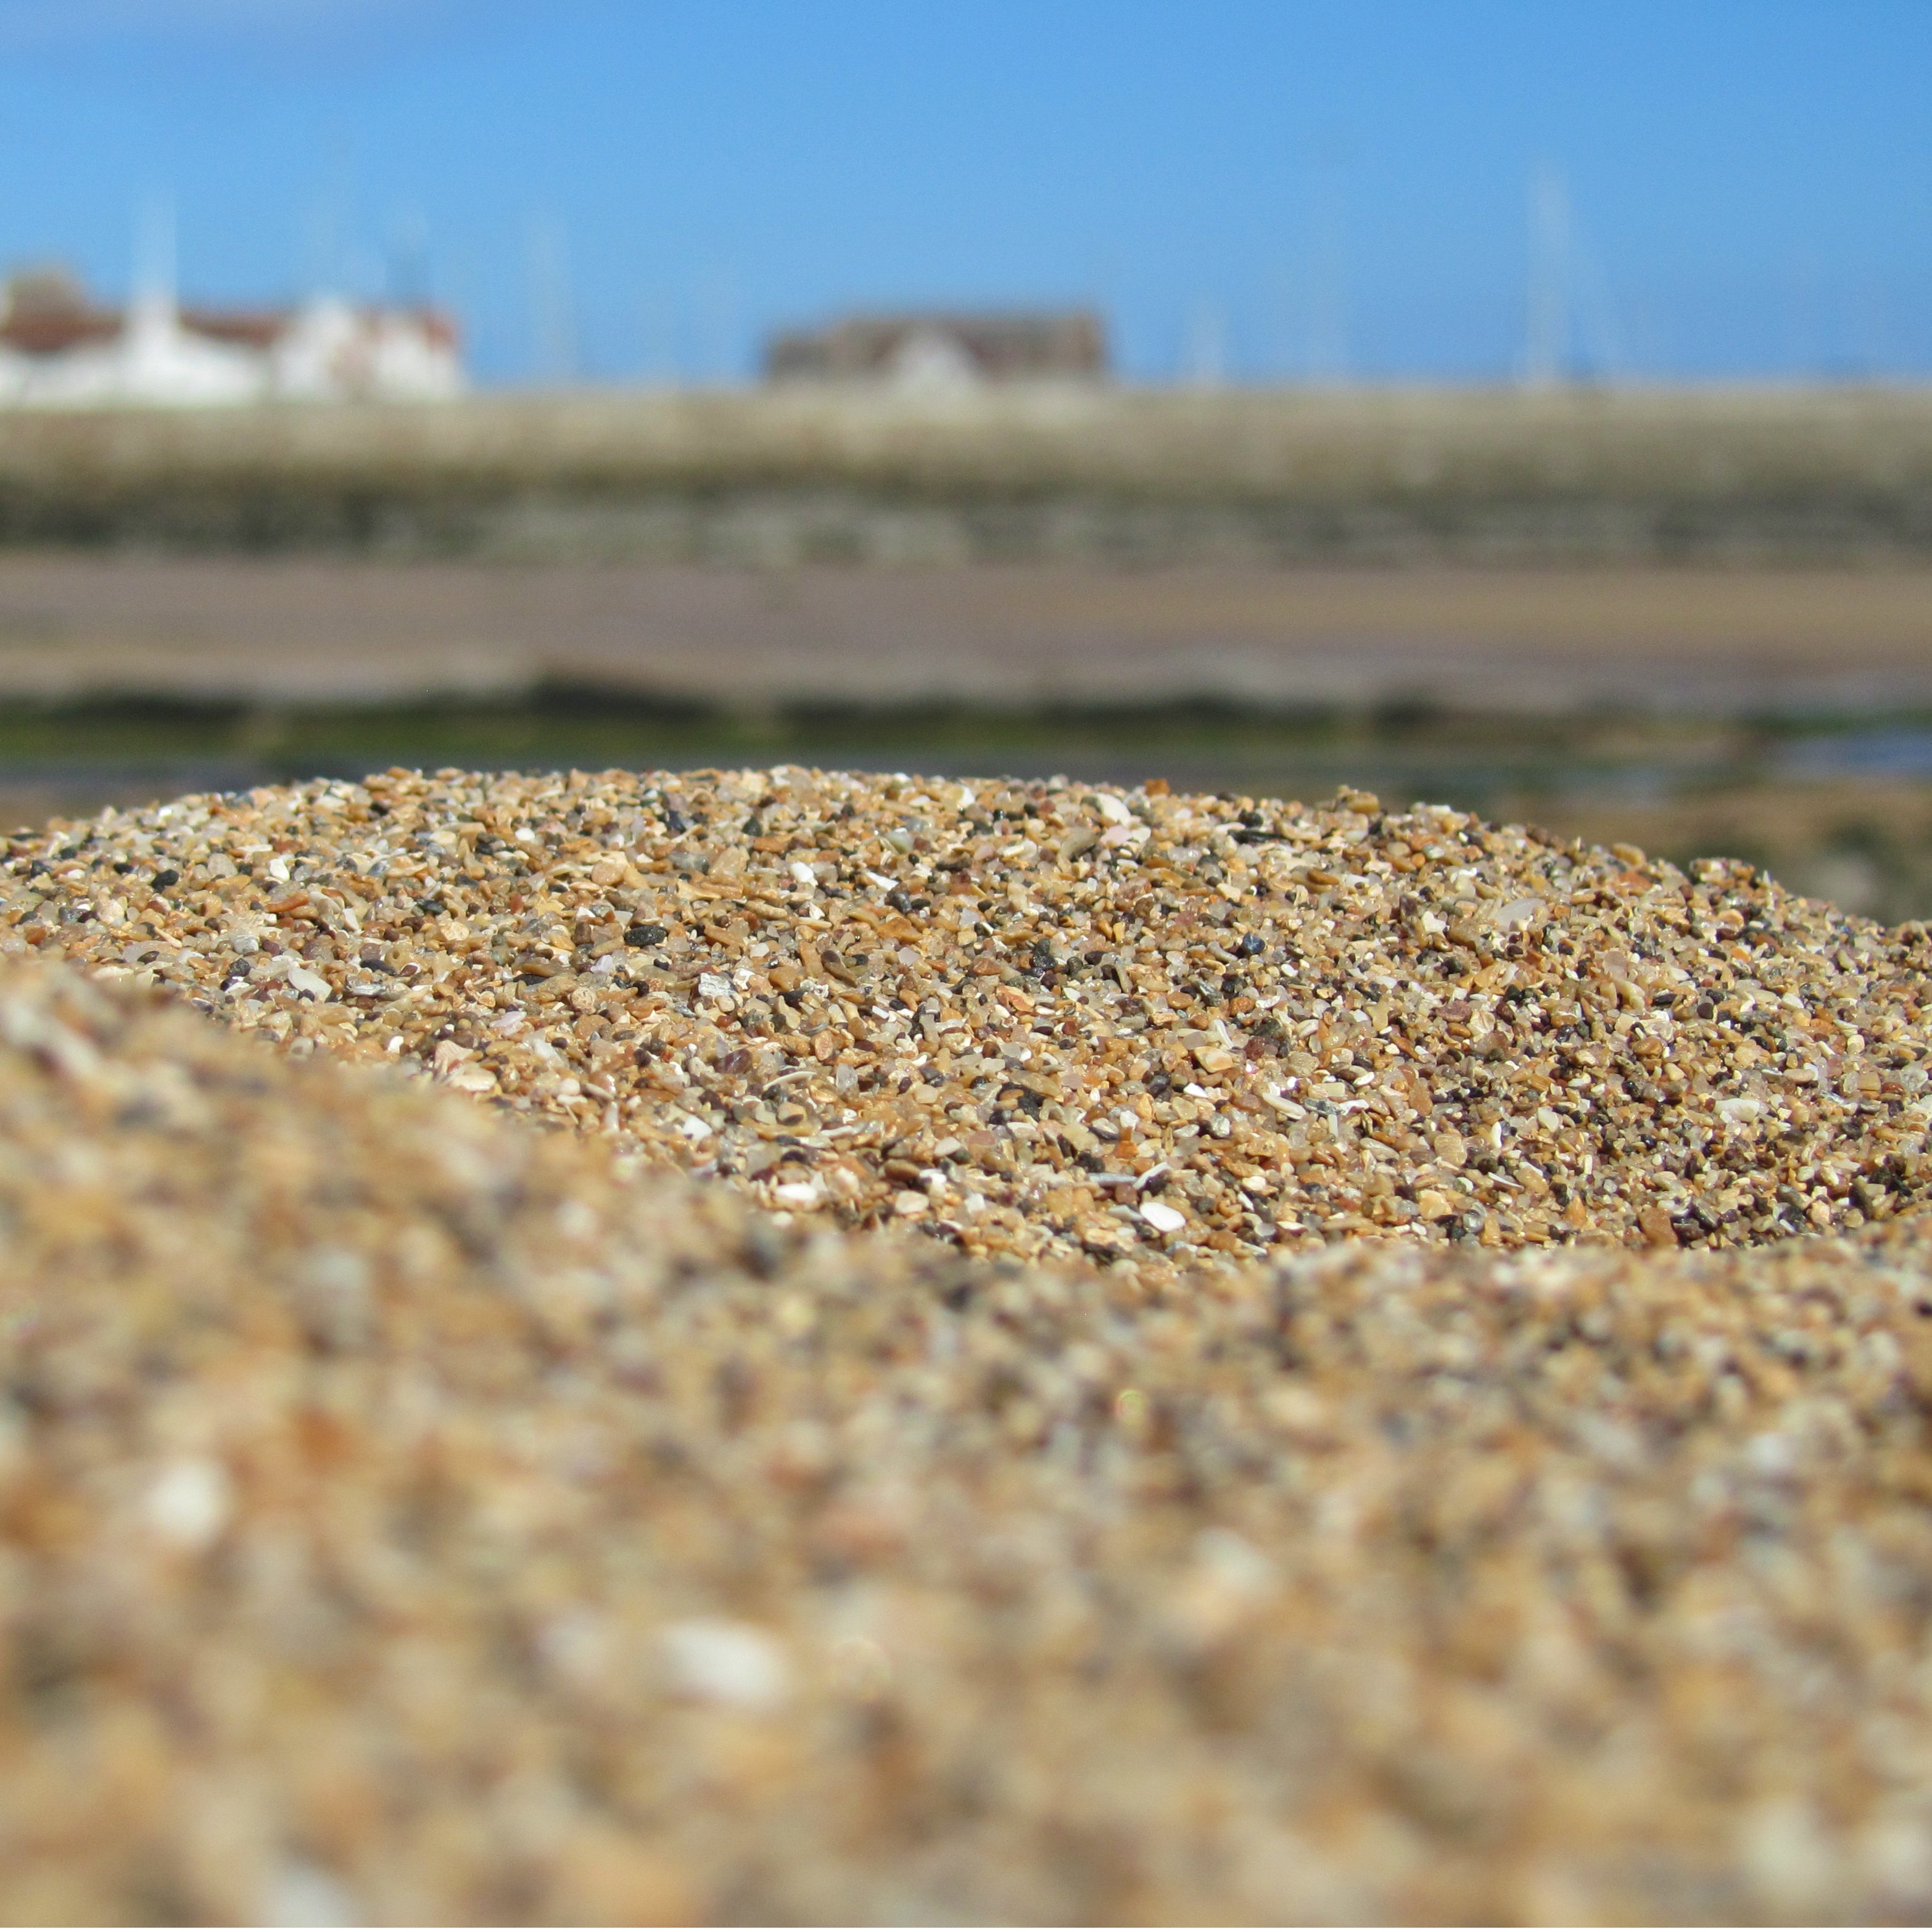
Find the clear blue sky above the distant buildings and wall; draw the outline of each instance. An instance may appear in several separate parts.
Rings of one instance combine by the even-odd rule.
[[[477,373],[1094,301],[1167,379],[1932,375],[1928,0],[0,0],[0,257],[427,282]]]

